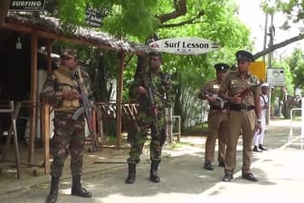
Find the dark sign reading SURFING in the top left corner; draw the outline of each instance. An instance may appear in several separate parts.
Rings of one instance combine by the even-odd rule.
[[[9,11],[43,11],[45,0],[40,1],[15,1],[11,0],[8,6]]]

